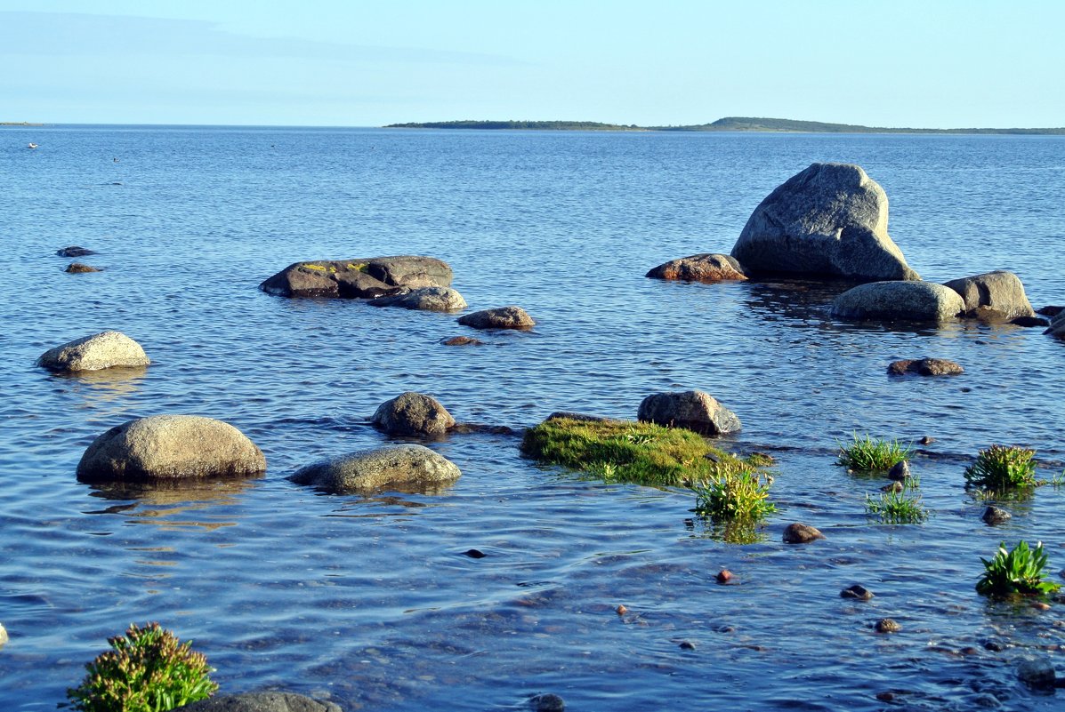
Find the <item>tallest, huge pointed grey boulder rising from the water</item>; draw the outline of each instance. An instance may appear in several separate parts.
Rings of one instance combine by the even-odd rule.
[[[887,195],[858,166],[815,163],[751,214],[732,256],[750,275],[917,280],[887,234]]]

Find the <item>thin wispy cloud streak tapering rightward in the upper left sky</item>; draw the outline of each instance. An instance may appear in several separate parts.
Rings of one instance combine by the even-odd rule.
[[[216,22],[130,15],[0,12],[0,56],[289,57],[332,62],[522,65],[497,54],[424,47],[347,45],[298,37],[256,37]]]

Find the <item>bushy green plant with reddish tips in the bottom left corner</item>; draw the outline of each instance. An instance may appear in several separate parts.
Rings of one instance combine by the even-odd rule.
[[[85,665],[88,675],[67,698],[82,712],[165,712],[210,697],[218,689],[207,658],[192,642],[158,623],[131,624],[126,635],[108,639],[111,650]]]

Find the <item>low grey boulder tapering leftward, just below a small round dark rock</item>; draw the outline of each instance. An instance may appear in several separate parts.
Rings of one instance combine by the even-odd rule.
[[[443,456],[421,445],[393,445],[323,460],[293,473],[296,484],[333,494],[373,492],[384,487],[425,487],[454,482],[462,473]]]

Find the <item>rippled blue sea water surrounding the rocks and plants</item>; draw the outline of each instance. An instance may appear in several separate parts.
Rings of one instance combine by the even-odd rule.
[[[193,639],[224,691],[348,710],[504,710],[541,692],[573,710],[1059,709],[1015,667],[1039,653],[1065,673],[1065,605],[988,605],[973,583],[1003,539],[1042,540],[1065,567],[1065,491],[990,529],[963,470],[993,443],[1036,448],[1044,477],[1065,468],[1065,344],[836,321],[837,286],[643,278],[727,252],[815,161],[884,186],[889,231],[925,279],[1007,268],[1035,307],[1065,303],[1061,137],[0,129],[0,709],[53,709],[109,635],[147,620]],[[104,271],[64,274],[67,245]],[[447,261],[471,309],[521,304],[538,327],[448,348],[466,333],[454,315],[257,289],[298,260],[402,253]],[[104,329],[153,365],[34,366]],[[886,378],[925,355],[966,374]],[[515,436],[432,444],[463,471],[439,494],[322,496],[284,479],[387,443],[365,420],[403,391],[521,428],[561,409],[635,417],[681,388],[740,416],[725,447],[777,456],[763,542],[722,543],[685,492],[537,466]],[[266,477],[137,496],[75,480],[96,435],[157,413],[232,423]],[[833,464],[854,431],[936,438],[913,463],[929,523],[866,516],[881,482]],[[794,520],[829,539],[784,546]],[[738,585],[715,582],[723,566]],[[876,597],[839,598],[853,583]],[[903,631],[872,632],[885,616]]]

